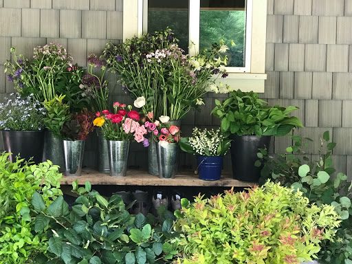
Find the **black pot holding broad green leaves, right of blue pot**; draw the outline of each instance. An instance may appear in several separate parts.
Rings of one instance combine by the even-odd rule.
[[[269,149],[272,137],[256,135],[233,135],[231,143],[232,173],[234,179],[241,181],[259,181],[261,167],[254,166],[258,157],[258,148]]]

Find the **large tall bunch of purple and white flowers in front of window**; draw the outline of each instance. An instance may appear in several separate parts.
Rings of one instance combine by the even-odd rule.
[[[120,45],[107,44],[104,58],[111,71],[133,98],[144,97],[145,115],[182,118],[192,107],[203,104],[208,91],[219,92],[214,78],[225,77],[225,45],[214,45],[188,56],[177,45],[170,29],[133,37]],[[222,91],[227,92],[226,89]]]

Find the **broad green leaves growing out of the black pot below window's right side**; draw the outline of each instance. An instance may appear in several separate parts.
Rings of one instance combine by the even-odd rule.
[[[225,135],[286,135],[294,127],[303,126],[290,113],[297,107],[270,107],[253,91],[232,91],[229,98],[220,102],[212,114],[220,118]]]

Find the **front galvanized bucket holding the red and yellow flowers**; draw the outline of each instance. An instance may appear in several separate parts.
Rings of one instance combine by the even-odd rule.
[[[107,140],[110,175],[126,176],[129,159],[129,141]]]

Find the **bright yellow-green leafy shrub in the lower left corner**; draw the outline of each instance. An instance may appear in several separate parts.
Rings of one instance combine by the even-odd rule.
[[[47,238],[44,228],[33,221],[34,210],[50,206],[62,194],[61,173],[50,161],[38,165],[23,159],[9,162],[8,155],[0,155],[0,263],[41,263]]]

